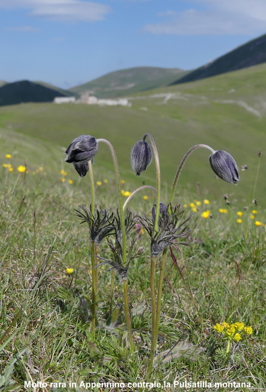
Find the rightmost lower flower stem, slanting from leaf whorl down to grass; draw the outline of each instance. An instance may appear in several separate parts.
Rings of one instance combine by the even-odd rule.
[[[160,265],[160,277],[159,277],[159,285],[158,285],[158,296],[157,296],[157,309],[156,309],[156,319],[155,319],[155,327],[154,333],[152,334],[151,348],[150,348],[150,362],[149,362],[149,373],[152,372],[152,365],[154,359],[155,347],[158,340],[158,331],[159,331],[159,320],[160,320],[160,312],[161,312],[161,299],[162,299],[162,290],[163,290],[163,281],[164,281],[164,270],[165,270],[165,261],[166,261],[166,253],[167,248],[163,250],[163,255],[161,258]]]

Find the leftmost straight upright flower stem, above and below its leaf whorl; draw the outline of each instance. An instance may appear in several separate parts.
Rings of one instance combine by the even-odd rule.
[[[88,162],[89,164],[89,173],[90,173],[90,180],[91,180],[91,199],[92,199],[92,216],[94,218],[95,215],[95,187],[94,187],[94,176],[93,176],[93,168],[92,168],[92,161]],[[91,333],[94,334],[95,332],[95,325],[96,325],[96,310],[97,310],[97,280],[98,280],[98,269],[96,268],[95,263],[95,241],[91,240],[91,262],[92,262],[92,326],[91,326]]]

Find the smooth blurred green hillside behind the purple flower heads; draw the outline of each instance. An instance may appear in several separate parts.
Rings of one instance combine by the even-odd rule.
[[[266,64],[226,73],[192,83],[164,87],[135,95],[132,107],[98,107],[96,105],[24,104],[0,108],[0,126],[4,129],[38,138],[58,148],[57,160],[63,167],[64,148],[81,134],[110,140],[118,155],[121,175],[127,176],[128,187],[154,184],[154,164],[140,177],[130,168],[130,149],[145,132],[154,137],[161,160],[164,193],[185,152],[195,144],[208,144],[231,153],[240,172],[238,186],[217,180],[205,149],[196,150],[181,173],[180,187],[200,196],[220,199],[227,194],[232,205],[249,204],[253,198],[259,160],[261,168],[255,197],[266,207],[265,155],[258,149],[266,145]],[[264,150],[263,150],[264,152]],[[52,165],[50,158],[38,155],[37,162]],[[37,163],[36,162],[36,163]],[[95,167],[101,168],[98,179],[112,161],[106,146],[100,146]],[[104,171],[102,171],[104,168]],[[69,169],[68,169],[69,170]],[[75,173],[74,173],[75,174]],[[83,180],[82,183],[88,183]],[[163,193],[163,195],[164,195]],[[163,196],[164,197],[164,196]]]

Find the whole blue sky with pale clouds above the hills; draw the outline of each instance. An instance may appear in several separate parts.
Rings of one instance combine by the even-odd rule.
[[[0,26],[0,80],[70,88],[204,65],[266,33],[266,0],[0,0]]]

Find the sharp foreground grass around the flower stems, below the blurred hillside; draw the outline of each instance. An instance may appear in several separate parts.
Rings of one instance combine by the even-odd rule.
[[[14,131],[1,132],[1,148],[12,154],[11,159],[6,159],[2,153],[1,163],[14,167],[13,172],[2,168],[0,174],[0,374],[4,377],[0,380],[5,380],[4,391],[21,391],[24,381],[30,380],[66,382],[66,388],[54,389],[62,392],[76,390],[68,386],[70,381],[79,385],[82,381],[127,384],[156,380],[162,385],[164,381],[169,383],[164,390],[170,392],[174,390],[174,381],[185,378],[188,382],[245,381],[265,390],[265,227],[256,227],[250,219],[254,205],[244,212],[239,224],[236,213],[242,210],[241,203],[227,206],[224,200],[212,199],[204,207],[206,195],[197,196],[201,205],[190,221],[191,244],[183,246],[181,254],[173,250],[179,270],[167,256],[157,350],[170,349],[187,339],[202,351],[193,361],[179,356],[163,362],[148,375],[151,314],[147,235],[138,237],[144,253],[129,268],[136,344],[136,351],[130,353],[122,286],[117,278],[113,316],[116,322],[111,326],[106,319],[111,281],[107,266],[100,268],[98,327],[95,336],[90,334],[89,230],[74,216],[78,205],[89,207],[88,176],[79,179],[70,165],[62,164],[59,146]],[[111,162],[110,156],[107,159]],[[102,172],[99,161],[97,157],[95,178],[108,182],[97,186],[97,202],[116,210],[115,175],[112,171]],[[27,174],[16,169],[24,162]],[[68,172],[64,182],[61,169]],[[73,184],[68,183],[70,178]],[[132,191],[131,179],[124,180],[124,189]],[[148,195],[145,201],[144,194]],[[167,200],[166,190],[163,197]],[[190,193],[181,192],[178,201],[193,202],[191,197]],[[153,195],[138,193],[129,207],[134,212],[149,214],[154,201]],[[227,208],[228,213],[219,213],[220,207]],[[211,210],[212,219],[201,217],[206,209]],[[263,208],[259,206],[257,210],[256,220],[266,223]],[[185,207],[185,216],[190,213],[190,207]],[[105,257],[110,255],[106,242],[99,251]],[[156,282],[158,264],[159,258]],[[72,276],[66,274],[66,268],[74,269]],[[254,328],[251,336],[233,343],[229,356],[224,355],[226,343],[213,329],[213,325],[224,320],[243,321]]]

